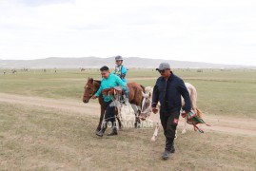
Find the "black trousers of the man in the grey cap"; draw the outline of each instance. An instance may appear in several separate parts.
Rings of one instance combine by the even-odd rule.
[[[171,113],[160,111],[160,120],[164,128],[164,134],[167,139],[175,138],[179,117],[180,117],[180,111],[174,111]]]

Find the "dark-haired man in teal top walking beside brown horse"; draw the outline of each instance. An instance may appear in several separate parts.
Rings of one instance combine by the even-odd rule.
[[[116,76],[113,73],[110,73],[108,66],[102,66],[100,70],[102,75],[101,86],[98,89],[98,91],[95,93],[95,95],[92,96],[92,99],[96,99],[97,97],[99,97],[102,94],[102,91],[104,89],[108,89],[118,85],[121,85],[123,90],[126,89],[127,84],[123,82],[120,77]],[[105,112],[103,126],[96,135],[100,137],[103,136],[105,130],[107,129],[108,122],[112,123],[112,132],[108,134],[108,136],[117,135],[117,128],[116,128],[115,116],[114,116],[115,106],[111,104],[112,103],[111,97],[107,95],[103,95],[103,98],[104,98],[106,112]]]

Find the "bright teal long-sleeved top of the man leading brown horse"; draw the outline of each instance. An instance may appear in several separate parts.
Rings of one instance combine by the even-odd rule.
[[[127,84],[123,82],[120,77],[116,76],[113,73],[110,73],[107,79],[102,78],[101,86],[96,92],[95,96],[99,97],[102,93],[102,90],[118,85],[121,85],[123,89],[126,89],[127,87]],[[109,96],[103,96],[103,98],[105,102],[109,102],[111,100],[111,97]]]

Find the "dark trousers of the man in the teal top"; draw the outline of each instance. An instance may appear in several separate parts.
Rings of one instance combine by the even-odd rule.
[[[112,101],[104,102],[104,108],[105,108],[105,116],[104,116],[104,123],[103,128],[107,128],[108,122],[112,123],[112,126],[115,126],[115,106],[112,103]]]

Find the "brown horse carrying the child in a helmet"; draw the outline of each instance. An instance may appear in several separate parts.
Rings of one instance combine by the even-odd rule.
[[[88,79],[88,82],[84,87],[85,92],[83,96],[83,102],[85,104],[89,103],[89,99],[97,92],[97,90],[100,88],[100,85],[101,85],[101,81],[93,80],[93,78]],[[143,100],[143,95],[141,92],[145,92],[145,87],[143,85],[138,85],[136,83],[128,83],[128,88],[129,88],[128,101],[130,104],[133,104],[131,106],[135,113],[134,126],[137,127],[138,124],[140,123],[139,116],[141,113],[141,104]],[[101,130],[101,125],[102,125],[102,121],[105,114],[104,100],[102,95],[98,98],[98,101],[99,101],[99,104],[101,105],[101,116],[100,116],[99,124],[96,128],[96,132]],[[120,125],[119,119],[118,119],[118,122]]]

